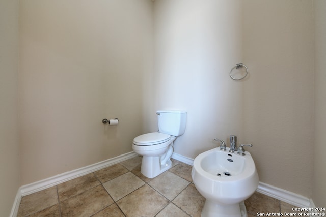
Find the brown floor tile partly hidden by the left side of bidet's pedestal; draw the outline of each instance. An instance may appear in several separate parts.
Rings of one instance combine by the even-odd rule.
[[[175,205],[193,217],[201,216],[205,198],[193,183],[189,184],[173,201]]]

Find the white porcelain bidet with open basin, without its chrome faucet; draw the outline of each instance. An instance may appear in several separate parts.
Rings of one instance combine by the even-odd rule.
[[[192,178],[199,193],[206,198],[202,217],[247,216],[244,200],[257,189],[259,178],[251,154],[240,156],[214,148],[194,160]]]

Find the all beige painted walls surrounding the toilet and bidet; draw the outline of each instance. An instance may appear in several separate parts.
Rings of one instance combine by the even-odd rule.
[[[131,151],[157,129],[156,109],[188,111],[175,152],[195,158],[235,134],[254,145],[262,182],[325,206],[323,1],[315,51],[312,1],[74,3],[20,1],[18,34],[18,2],[1,2],[3,213],[19,185]],[[250,74],[233,81],[241,61]],[[105,117],[120,123],[103,126]]]

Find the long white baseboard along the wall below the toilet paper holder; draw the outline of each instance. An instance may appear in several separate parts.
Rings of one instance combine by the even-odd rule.
[[[50,188],[57,184],[63,183],[65,181],[69,181],[71,179],[86,175],[91,172],[95,172],[97,170],[103,169],[105,167],[120,163],[130,158],[134,158],[137,154],[133,151],[129,153],[122,154],[115,158],[107,159],[105,161],[101,161],[86,167],[82,167],[76,170],[72,170],[69,172],[65,172],[50,178],[46,178],[31,184],[23,185],[20,188],[21,196],[33,194],[35,192]]]

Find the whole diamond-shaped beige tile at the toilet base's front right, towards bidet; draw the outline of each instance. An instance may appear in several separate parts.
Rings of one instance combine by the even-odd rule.
[[[158,175],[148,182],[153,189],[169,200],[173,200],[189,183],[187,180],[169,171]]]

